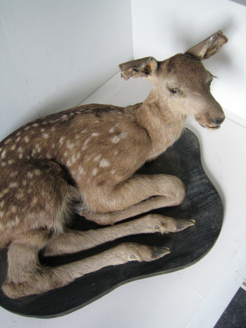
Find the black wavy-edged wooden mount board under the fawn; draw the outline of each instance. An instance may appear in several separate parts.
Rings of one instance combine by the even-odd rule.
[[[195,226],[169,235],[141,234],[119,238],[86,252],[66,257],[40,257],[42,264],[56,266],[94,255],[121,242],[137,242],[147,245],[165,246],[171,253],[153,262],[129,262],[124,265],[107,267],[76,279],[63,288],[41,295],[32,295],[11,300],[0,291],[0,305],[3,308],[25,316],[51,318],[82,308],[109,293],[117,286],[140,278],[177,271],[188,267],[206,255],[213,247],[222,227],[223,206],[221,199],[203,171],[200,148],[196,136],[186,130],[173,147],[138,173],[173,174],[179,177],[187,188],[186,198],[178,207],[152,211],[174,218],[194,219]],[[141,215],[142,216],[142,215]],[[132,218],[134,219],[134,218]],[[98,229],[96,223],[79,216],[75,217],[72,228],[76,230]],[[0,252],[0,284],[6,277],[7,251]]]

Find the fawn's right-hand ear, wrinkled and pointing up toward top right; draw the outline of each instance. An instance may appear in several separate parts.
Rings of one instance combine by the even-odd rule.
[[[228,38],[222,34],[222,31],[218,31],[198,45],[187,50],[186,53],[199,60],[207,59],[219,52],[220,48],[227,42]]]

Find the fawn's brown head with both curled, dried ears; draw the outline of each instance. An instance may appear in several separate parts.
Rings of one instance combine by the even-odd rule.
[[[121,64],[121,76],[126,80],[130,77],[150,79],[163,109],[192,115],[201,126],[216,129],[223,122],[224,113],[210,92],[213,75],[201,60],[219,52],[227,41],[218,31],[184,54],[163,61],[146,57]]]

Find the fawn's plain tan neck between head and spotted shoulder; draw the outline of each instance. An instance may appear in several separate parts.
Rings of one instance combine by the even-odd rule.
[[[150,158],[157,157],[173,145],[184,129],[186,119],[185,115],[173,111],[168,101],[161,100],[154,89],[138,109],[136,117],[150,136]]]

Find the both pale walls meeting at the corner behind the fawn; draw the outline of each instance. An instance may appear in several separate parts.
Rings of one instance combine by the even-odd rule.
[[[228,0],[0,0],[0,14],[0,139],[81,103],[133,49],[134,58],[162,60],[219,29],[229,43],[203,63],[219,77],[212,92],[222,107],[246,118],[246,7]]]

